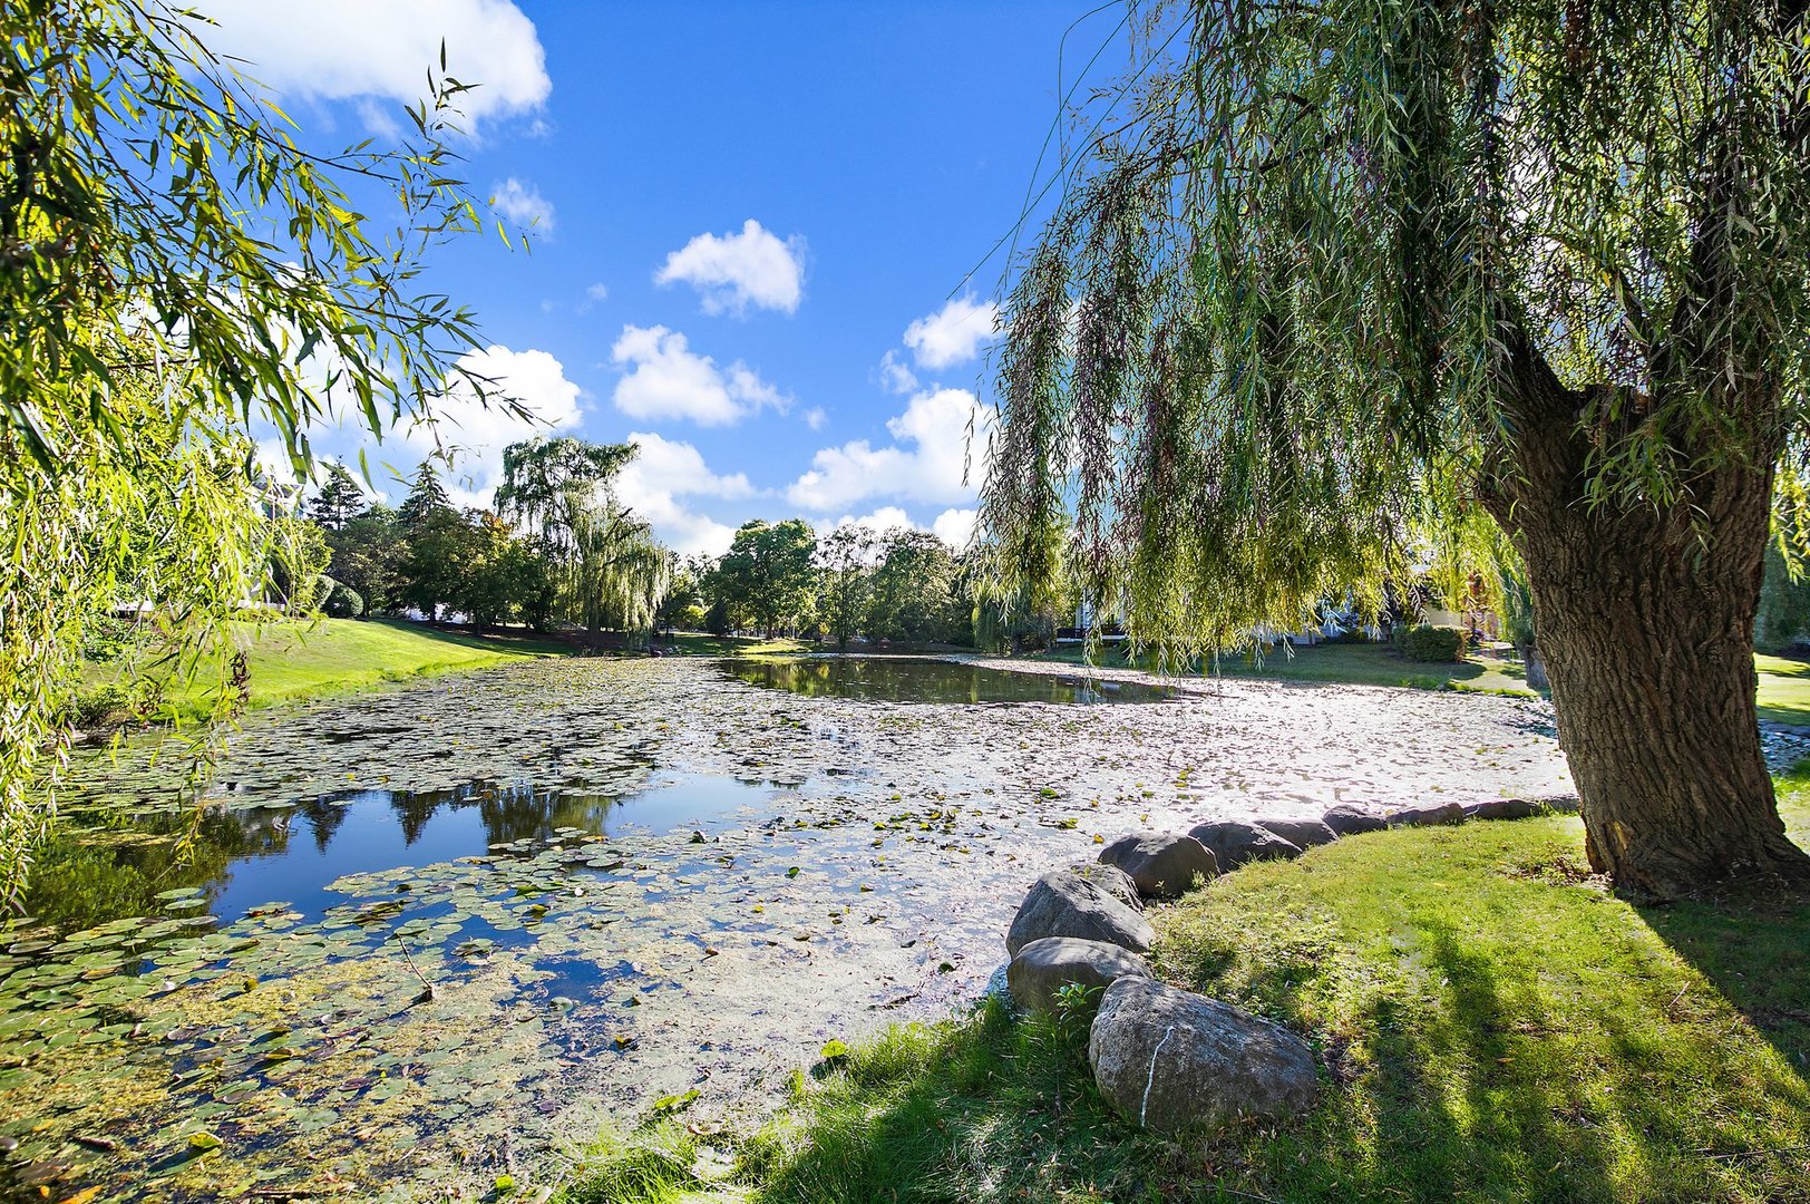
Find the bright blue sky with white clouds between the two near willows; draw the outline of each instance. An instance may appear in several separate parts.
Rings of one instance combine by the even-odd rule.
[[[393,130],[445,38],[452,74],[481,83],[467,177],[534,246],[449,246],[434,284],[478,310],[478,366],[554,429],[643,444],[623,492],[668,543],[715,552],[748,518],[793,514],[965,538],[1005,259],[965,277],[1053,163],[1034,176],[1059,69],[1066,87],[1120,7],[1064,56],[1086,4],[206,7],[212,40],[331,143]],[[454,476],[483,502],[525,431],[445,409]],[[407,473],[420,445],[373,462]]]

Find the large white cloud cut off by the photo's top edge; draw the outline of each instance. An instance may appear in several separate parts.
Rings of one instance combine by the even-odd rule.
[[[373,134],[395,116],[373,101],[413,105],[427,72],[478,85],[458,105],[476,127],[530,112],[552,91],[534,22],[512,0],[197,0],[219,22],[203,40],[248,60],[243,71],[286,96],[358,100]]]

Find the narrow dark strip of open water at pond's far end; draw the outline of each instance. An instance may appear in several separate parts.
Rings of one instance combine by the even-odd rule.
[[[981,664],[905,657],[720,661],[755,686],[867,702],[1162,702],[1173,690],[1070,674],[1014,674]]]

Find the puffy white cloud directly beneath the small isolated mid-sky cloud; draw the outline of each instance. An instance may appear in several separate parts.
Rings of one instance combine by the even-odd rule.
[[[719,369],[664,326],[624,326],[610,358],[628,371],[615,382],[615,407],[630,418],[729,425],[760,407],[784,413],[791,398],[737,360]]]

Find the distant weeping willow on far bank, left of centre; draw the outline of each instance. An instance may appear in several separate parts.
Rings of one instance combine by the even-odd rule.
[[[567,617],[594,635],[650,632],[672,585],[672,552],[615,498],[615,476],[635,451],[570,436],[503,449],[496,512],[536,541],[561,581]]]

